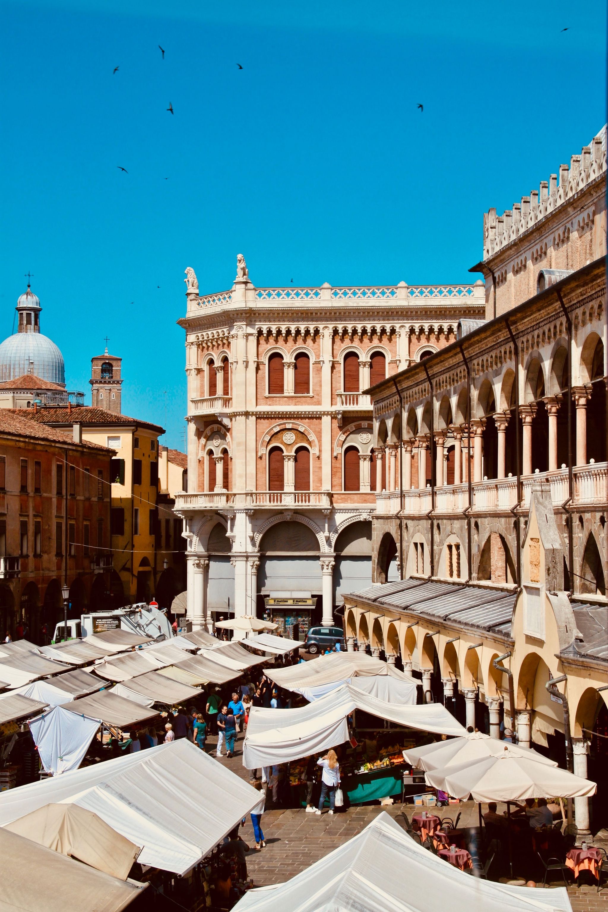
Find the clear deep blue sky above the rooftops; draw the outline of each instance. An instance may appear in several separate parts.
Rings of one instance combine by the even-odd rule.
[[[538,187],[605,120],[601,0],[0,12],[0,337],[30,270],[69,388],[90,401],[108,335],[123,410],[166,421],[170,446],[187,265],[202,292],[230,287],[237,253],[256,285],[470,281],[483,212]]]

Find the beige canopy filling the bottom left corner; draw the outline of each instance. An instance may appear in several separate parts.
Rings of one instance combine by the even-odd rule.
[[[17,791],[16,789],[14,790]],[[0,830],[2,912],[121,912],[147,885],[119,880],[7,830]]]

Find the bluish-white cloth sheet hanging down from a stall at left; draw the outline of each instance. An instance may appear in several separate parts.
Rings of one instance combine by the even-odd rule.
[[[55,706],[27,724],[42,765],[46,772],[56,776],[61,772],[77,770],[101,722],[97,717],[68,712],[65,706]]]

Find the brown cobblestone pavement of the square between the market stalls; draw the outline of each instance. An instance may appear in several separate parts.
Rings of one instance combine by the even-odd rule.
[[[224,757],[218,762],[249,781],[250,772],[242,765],[242,734],[238,739],[235,756]],[[208,743],[210,752],[212,747],[214,754],[216,739],[210,738]],[[487,810],[485,805],[482,810]],[[262,818],[266,847],[260,852],[253,848],[247,855],[248,875],[255,886],[281,884],[352,839],[382,811],[396,817],[401,811],[401,804],[358,804],[333,816],[324,813],[321,817],[306,814],[304,808],[269,809]],[[411,816],[411,811],[409,805],[406,808],[408,816]],[[442,816],[452,818],[458,813],[461,814],[459,826],[478,823],[479,811],[473,802],[453,805],[441,812]],[[248,845],[255,845],[251,818],[247,818],[241,834]],[[554,886],[562,886],[562,880],[555,881]],[[594,886],[570,886],[568,893],[573,912],[608,912],[608,886],[604,886],[600,894]]]

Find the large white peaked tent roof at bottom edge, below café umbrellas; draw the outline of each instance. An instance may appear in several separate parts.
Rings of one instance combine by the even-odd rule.
[[[234,912],[572,912],[565,887],[538,890],[465,874],[386,812],[291,880],[248,890]]]

